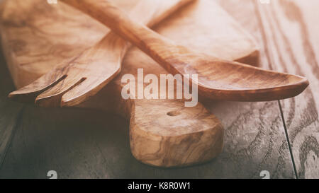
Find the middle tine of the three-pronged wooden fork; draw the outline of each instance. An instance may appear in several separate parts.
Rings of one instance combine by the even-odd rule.
[[[67,76],[55,86],[52,86],[38,95],[38,97],[35,98],[35,104],[40,107],[60,107],[62,95],[84,80],[85,78]]]

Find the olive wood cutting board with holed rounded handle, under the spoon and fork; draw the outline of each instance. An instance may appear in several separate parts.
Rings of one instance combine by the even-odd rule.
[[[137,1],[114,3],[129,11]],[[6,1],[1,13],[1,42],[17,88],[93,46],[109,32],[84,13],[57,2]],[[154,29],[198,51],[257,64],[258,49],[253,38],[213,1],[191,2]],[[223,148],[223,127],[201,103],[184,107],[182,100],[124,100],[121,97],[125,86],[121,83],[122,76],[136,77],[139,68],[145,75],[167,74],[159,64],[133,47],[123,59],[121,74],[77,107],[114,112],[130,119],[130,148],[142,163],[172,167],[216,157]]]

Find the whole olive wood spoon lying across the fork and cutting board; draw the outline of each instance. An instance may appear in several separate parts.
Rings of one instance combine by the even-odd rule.
[[[206,98],[235,101],[281,100],[298,95],[308,86],[308,80],[302,76],[230,62],[176,45],[136,23],[109,1],[103,0],[99,6],[89,0],[62,1],[107,25],[152,57],[169,73],[198,74],[198,93]]]

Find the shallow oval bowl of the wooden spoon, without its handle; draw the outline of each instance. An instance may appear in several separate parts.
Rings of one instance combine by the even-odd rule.
[[[309,85],[307,78],[302,76],[260,69],[206,54],[194,54],[186,49],[182,52],[184,54],[174,54],[174,59],[166,60],[179,74],[198,74],[198,91],[205,98],[279,100],[296,96]]]

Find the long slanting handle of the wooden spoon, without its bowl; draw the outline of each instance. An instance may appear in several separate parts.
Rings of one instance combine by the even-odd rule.
[[[133,21],[127,14],[114,6],[110,1],[99,0],[62,0],[66,4],[78,8],[87,13],[89,16],[100,21],[104,25],[111,28],[115,33],[123,37],[123,39],[132,42],[135,46],[147,53],[152,59],[161,64],[169,72],[172,72],[172,66],[163,60],[161,50],[170,52],[176,49],[176,45],[161,35],[153,32],[138,22]],[[189,0],[185,0],[189,1]],[[171,47],[172,46],[172,47]],[[170,47],[170,48],[169,48]],[[165,55],[165,54],[164,54]]]

